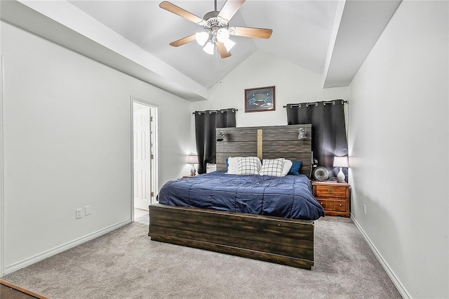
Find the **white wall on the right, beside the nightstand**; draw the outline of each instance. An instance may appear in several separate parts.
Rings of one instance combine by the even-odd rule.
[[[448,20],[403,1],[349,86],[351,213],[411,298],[449,298]]]

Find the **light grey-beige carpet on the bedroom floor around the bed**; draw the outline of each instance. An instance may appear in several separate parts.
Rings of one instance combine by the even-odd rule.
[[[4,277],[49,298],[401,298],[349,219],[315,226],[312,270],[151,241],[133,222]]]

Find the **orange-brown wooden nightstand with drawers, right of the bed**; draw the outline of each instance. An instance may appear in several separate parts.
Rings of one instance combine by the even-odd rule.
[[[347,182],[311,182],[314,197],[329,216],[349,217],[351,185]]]

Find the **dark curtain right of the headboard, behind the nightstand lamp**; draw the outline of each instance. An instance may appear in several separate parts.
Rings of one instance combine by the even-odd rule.
[[[288,124],[311,124],[311,150],[319,166],[329,170],[329,177],[336,176],[340,168],[333,168],[334,156],[347,156],[346,125],[344,124],[344,100],[288,104]],[[346,171],[345,171],[346,172]]]

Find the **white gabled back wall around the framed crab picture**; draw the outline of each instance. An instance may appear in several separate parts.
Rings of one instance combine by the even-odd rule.
[[[276,87],[276,110],[245,113],[246,88]],[[287,124],[284,105],[318,100],[347,99],[348,88],[323,89],[321,74],[311,72],[264,51],[253,53],[219,84],[209,90],[207,101],[192,102],[192,111],[237,108],[236,126],[276,126]],[[192,117],[193,121],[194,117]]]

